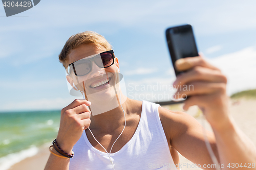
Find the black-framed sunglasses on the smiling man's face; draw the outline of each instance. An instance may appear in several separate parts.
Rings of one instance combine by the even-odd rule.
[[[70,72],[74,70],[76,76],[87,75],[92,70],[92,61],[100,68],[110,67],[114,64],[114,51],[102,52],[92,58],[84,58],[69,64]],[[72,66],[71,66],[72,65]]]

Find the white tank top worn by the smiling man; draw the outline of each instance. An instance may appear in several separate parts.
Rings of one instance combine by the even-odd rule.
[[[121,150],[110,154],[115,170],[175,169],[160,122],[159,104],[142,101],[137,130]],[[95,149],[85,131],[73,148],[70,170],[113,169],[108,154]]]

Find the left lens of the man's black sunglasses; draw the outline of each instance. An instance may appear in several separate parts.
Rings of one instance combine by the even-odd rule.
[[[77,76],[84,76],[90,72],[92,67],[92,62],[87,59],[79,60],[79,62],[74,63],[75,71]]]

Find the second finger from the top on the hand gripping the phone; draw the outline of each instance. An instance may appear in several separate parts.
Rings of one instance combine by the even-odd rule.
[[[173,83],[174,87],[182,86],[191,81],[223,82],[227,83],[227,78],[218,70],[196,66],[191,70],[179,75]]]

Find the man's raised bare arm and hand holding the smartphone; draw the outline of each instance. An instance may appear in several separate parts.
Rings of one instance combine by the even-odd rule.
[[[190,106],[198,105],[203,111],[214,131],[214,137],[208,133],[208,138],[217,158],[219,157],[220,163],[225,165],[222,169],[230,169],[227,167],[229,163],[255,164],[255,146],[236,126],[230,116],[229,97],[226,95],[226,77],[218,68],[207,63],[201,56],[177,60],[176,68],[187,71],[177,77],[174,86],[193,87],[193,89],[186,89],[186,91],[183,88],[178,88],[176,96],[177,94],[190,96],[184,103],[183,108],[185,110]],[[182,114],[177,113],[173,117],[169,117],[169,119],[174,119],[172,121],[180,127],[180,129],[169,127],[169,131],[170,128],[173,128],[179,132],[171,136],[171,142],[189,160],[209,163],[208,151],[203,143],[202,133],[200,133],[201,128],[197,128],[199,126],[195,120],[186,118]],[[256,169],[256,167],[250,166],[250,169]]]

